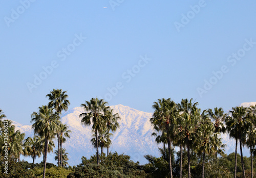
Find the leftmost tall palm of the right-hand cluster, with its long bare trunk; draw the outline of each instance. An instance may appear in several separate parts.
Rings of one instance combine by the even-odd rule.
[[[152,108],[155,110],[153,117],[150,119],[151,123],[154,125],[156,131],[166,132],[167,134],[167,143],[168,143],[168,168],[169,175],[173,177],[172,171],[172,138],[174,133],[174,128],[176,124],[177,108],[176,104],[170,98],[168,99],[158,99],[158,102],[154,102]]]

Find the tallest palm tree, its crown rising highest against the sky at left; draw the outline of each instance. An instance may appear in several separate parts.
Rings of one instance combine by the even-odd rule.
[[[53,91],[50,91],[49,94],[46,95],[46,97],[49,98],[50,102],[48,104],[49,108],[54,108],[57,112],[58,116],[61,115],[61,111],[67,111],[68,106],[70,105],[69,100],[67,99],[69,96],[66,94],[67,91],[63,91],[62,89],[53,89]],[[59,117],[60,118],[60,117]],[[58,139],[58,166],[60,165],[60,141],[59,141],[59,132],[57,132],[57,139]]]

